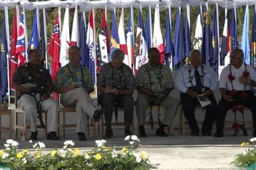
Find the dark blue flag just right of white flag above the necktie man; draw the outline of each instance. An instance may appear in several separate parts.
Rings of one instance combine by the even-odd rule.
[[[201,47],[201,59],[202,63],[207,66],[212,66],[213,64],[213,45],[212,45],[212,35],[211,28],[209,27],[208,11],[205,9],[203,13],[203,44]]]

